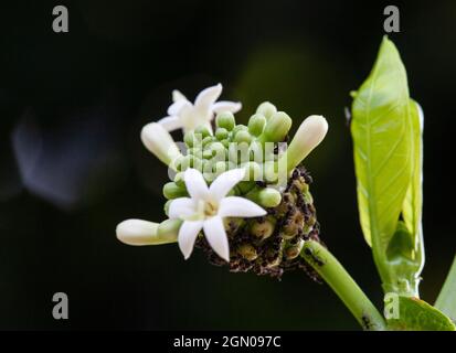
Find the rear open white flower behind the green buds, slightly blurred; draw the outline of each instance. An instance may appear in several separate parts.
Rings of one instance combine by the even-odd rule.
[[[200,92],[194,104],[189,101],[179,90],[172,93],[172,100],[168,108],[168,117],[160,119],[168,131],[183,129],[183,132],[194,130],[199,126],[205,126],[211,131],[211,120],[214,115],[222,111],[236,113],[241,109],[241,103],[216,99],[222,94],[222,85],[218,84]]]

